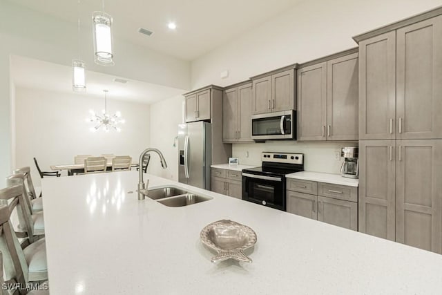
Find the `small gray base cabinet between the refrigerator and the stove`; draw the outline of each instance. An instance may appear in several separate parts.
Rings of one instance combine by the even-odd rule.
[[[242,199],[241,171],[212,168],[211,191]]]

